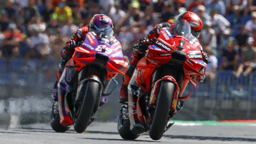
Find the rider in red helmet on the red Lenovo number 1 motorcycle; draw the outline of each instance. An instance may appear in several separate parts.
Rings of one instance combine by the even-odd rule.
[[[175,20],[175,23],[173,23],[173,22],[160,23],[160,24],[156,25],[156,27],[153,28],[153,30],[150,31],[144,38],[138,40],[134,44],[134,47],[133,47],[134,54],[131,57],[130,66],[123,76],[123,84],[122,84],[121,92],[119,95],[119,102],[122,104],[122,107],[125,108],[125,106],[126,106],[125,103],[128,102],[127,86],[128,86],[129,81],[131,80],[133,71],[135,70],[135,67],[136,67],[138,61],[142,57],[145,56],[146,51],[148,50],[148,42],[156,39],[160,34],[161,28],[164,28],[164,27],[170,27],[172,34],[179,35],[179,27],[180,27],[180,25],[182,25],[180,23],[181,22],[180,20],[187,20],[191,27],[192,35],[195,36],[196,38],[199,37],[199,35],[202,31],[202,28],[203,28],[202,20],[194,12],[183,12],[178,15],[178,17]],[[202,46],[201,46],[201,52],[202,52],[202,55],[207,59],[208,56],[205,52],[203,52]],[[207,60],[204,60],[204,61],[206,63],[208,63]],[[204,70],[201,72],[204,73]],[[204,81],[204,78],[205,78],[205,73],[204,73],[204,76],[195,75],[193,77],[193,79],[199,83],[202,83]]]

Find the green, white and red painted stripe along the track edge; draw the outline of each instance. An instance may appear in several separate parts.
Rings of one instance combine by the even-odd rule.
[[[200,126],[200,125],[251,125],[256,126],[256,120],[222,120],[222,121],[181,121],[170,120],[176,126]]]

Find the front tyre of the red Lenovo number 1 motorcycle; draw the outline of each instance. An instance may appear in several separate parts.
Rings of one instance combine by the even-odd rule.
[[[164,134],[168,114],[172,104],[175,84],[162,81],[156,100],[156,108],[153,113],[153,121],[149,130],[149,136],[153,140],[159,140]]]

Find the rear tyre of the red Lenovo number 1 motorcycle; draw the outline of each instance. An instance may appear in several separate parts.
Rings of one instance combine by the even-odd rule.
[[[130,130],[130,121],[123,119],[122,112],[120,112],[120,114],[119,114],[118,123],[117,123],[117,130],[118,130],[119,135],[124,140],[135,140],[140,136],[140,135],[133,134],[131,132],[131,130]]]

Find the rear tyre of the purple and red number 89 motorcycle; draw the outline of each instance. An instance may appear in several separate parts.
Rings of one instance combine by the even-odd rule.
[[[52,113],[50,118],[50,124],[52,129],[55,132],[66,132],[70,128],[70,126],[66,127],[60,124],[60,115],[57,112],[54,112],[54,105],[58,105],[57,101],[54,101],[52,106]],[[56,111],[56,110],[55,110]]]

